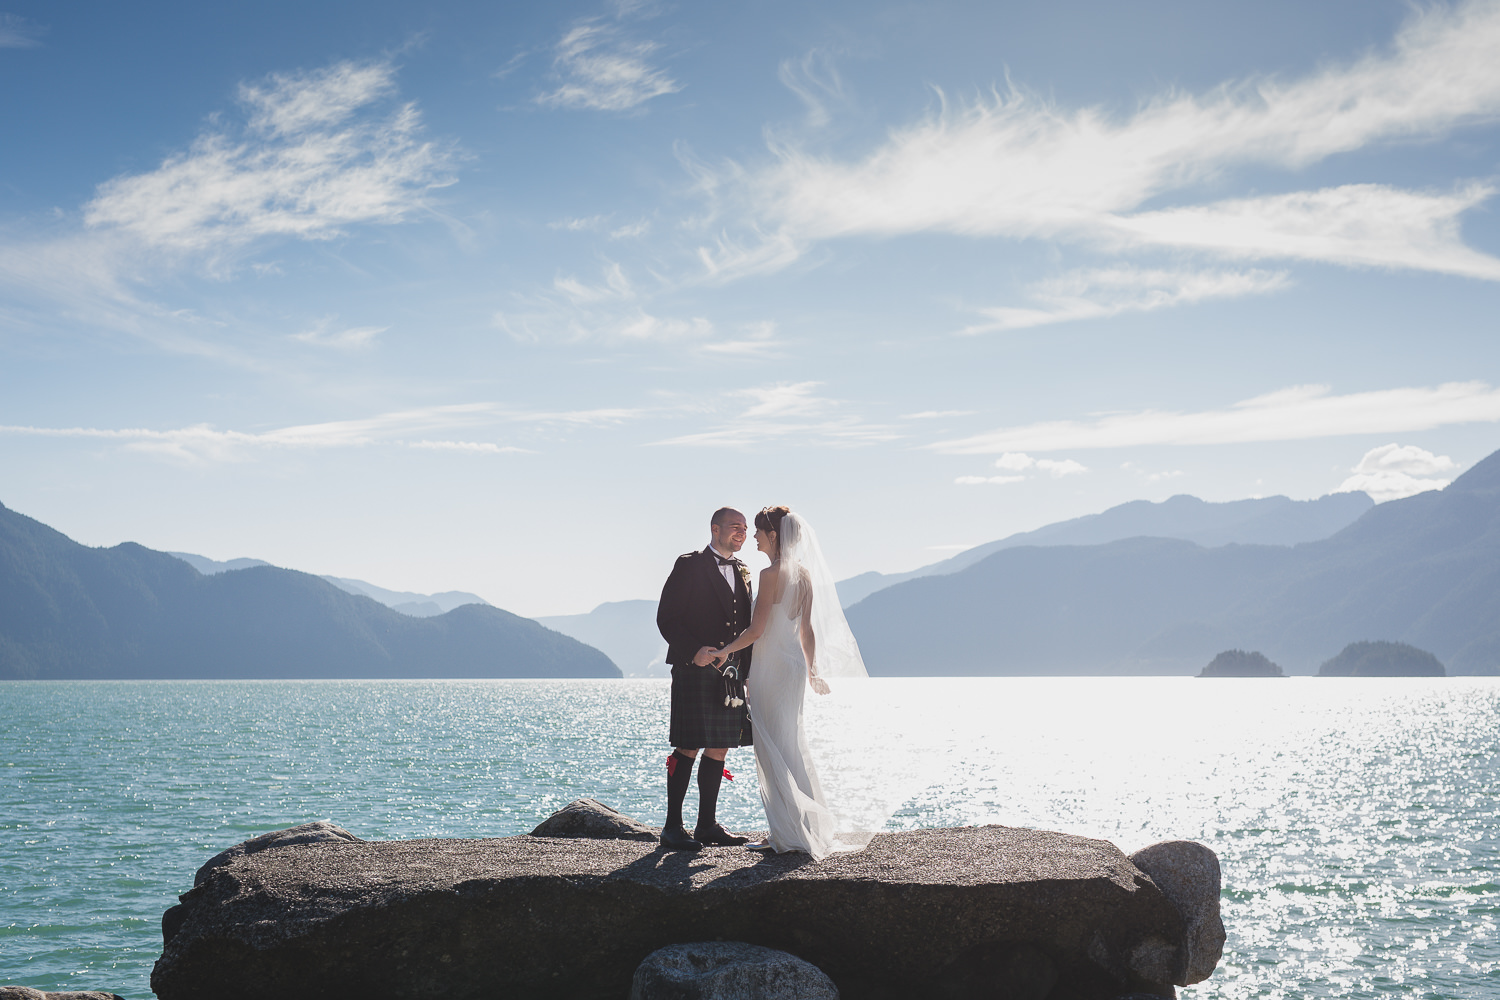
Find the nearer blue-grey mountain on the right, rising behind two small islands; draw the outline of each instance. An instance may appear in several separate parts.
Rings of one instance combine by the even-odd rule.
[[[1196,673],[1232,648],[1311,673],[1356,640],[1500,673],[1500,453],[1317,541],[1008,547],[848,616],[874,675]]]

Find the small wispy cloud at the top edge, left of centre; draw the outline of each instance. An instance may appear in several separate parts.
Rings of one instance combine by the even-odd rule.
[[[591,18],[574,24],[552,60],[562,82],[537,97],[552,108],[628,111],[682,88],[648,60],[662,46],[624,37],[618,24]]]

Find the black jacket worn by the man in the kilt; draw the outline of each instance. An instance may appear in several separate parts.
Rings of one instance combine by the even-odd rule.
[[[676,558],[657,604],[657,630],[666,639],[666,661],[693,663],[704,646],[724,646],[750,627],[750,571],[735,559],[735,586],[718,571],[712,549]],[[740,676],[750,673],[750,651],[740,654]]]

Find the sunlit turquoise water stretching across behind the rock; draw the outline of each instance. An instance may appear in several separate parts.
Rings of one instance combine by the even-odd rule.
[[[0,684],[0,984],[150,997],[207,858],[333,820],[504,837],[592,796],[660,822],[663,681]],[[1500,682],[880,679],[927,786],[891,825],[1198,840],[1228,945],[1184,997],[1500,996]],[[898,733],[898,735],[892,735]],[[836,762],[837,765],[837,762]],[[759,825],[748,751],[728,825]],[[692,796],[690,796],[692,807]]]

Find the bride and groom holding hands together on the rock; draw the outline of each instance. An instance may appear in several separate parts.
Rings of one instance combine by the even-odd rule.
[[[750,847],[822,859],[862,847],[868,832],[848,829],[830,810],[802,732],[802,696],[808,687],[828,694],[824,678],[866,676],[864,661],[807,522],[766,507],[754,528],[756,547],[771,559],[758,598],[735,556],[748,525],[730,507],[714,511],[708,547],[678,556],[662,588],[657,628],[672,664],[674,747],[662,844],[698,850],[747,841],[714,814],[728,750],[753,745],[770,837]],[[699,751],[698,823],[688,835],[682,799]]]

